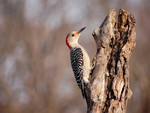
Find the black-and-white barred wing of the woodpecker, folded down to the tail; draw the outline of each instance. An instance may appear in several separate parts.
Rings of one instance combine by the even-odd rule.
[[[70,51],[71,65],[74,72],[75,79],[79,88],[81,89],[82,96],[86,98],[86,92],[83,83],[83,53],[81,48],[72,48]]]

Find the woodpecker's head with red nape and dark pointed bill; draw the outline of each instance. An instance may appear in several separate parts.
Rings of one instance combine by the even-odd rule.
[[[66,44],[67,46],[71,49],[73,47],[73,45],[78,44],[78,39],[79,36],[81,35],[80,33],[85,29],[85,27],[83,27],[82,29],[80,29],[79,31],[72,31],[71,33],[69,33],[66,37]]]

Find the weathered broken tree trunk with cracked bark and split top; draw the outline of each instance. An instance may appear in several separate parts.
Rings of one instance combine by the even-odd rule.
[[[118,22],[117,22],[118,21]],[[87,89],[88,113],[125,113],[132,96],[129,86],[129,58],[136,43],[136,22],[130,13],[109,11],[93,32],[97,45],[95,67]]]

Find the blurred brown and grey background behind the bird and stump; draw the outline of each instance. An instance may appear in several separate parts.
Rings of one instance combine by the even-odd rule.
[[[0,113],[85,113],[65,37],[86,26],[79,42],[92,59],[111,8],[137,22],[127,113],[150,113],[150,0],[0,0]]]

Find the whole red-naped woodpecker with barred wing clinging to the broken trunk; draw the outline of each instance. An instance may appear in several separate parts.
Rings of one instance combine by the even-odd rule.
[[[85,85],[89,83],[91,71],[90,58],[85,49],[78,43],[80,33],[84,29],[85,27],[79,31],[69,33],[66,37],[66,44],[70,49],[70,59],[74,76],[81,89],[83,98],[86,98]]]

